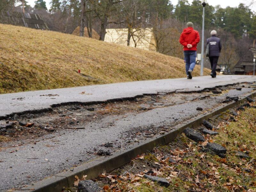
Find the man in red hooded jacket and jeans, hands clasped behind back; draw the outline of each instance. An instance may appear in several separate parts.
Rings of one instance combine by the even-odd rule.
[[[193,29],[192,22],[187,23],[187,28],[180,35],[180,44],[184,46],[184,56],[186,62],[186,74],[188,79],[192,79],[192,71],[196,65],[196,46],[200,41],[198,31]]]

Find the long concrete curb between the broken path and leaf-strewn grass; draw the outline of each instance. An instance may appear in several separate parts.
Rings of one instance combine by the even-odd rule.
[[[75,175],[79,178],[82,178],[83,175],[87,175],[87,179],[93,179],[97,177],[103,171],[110,172],[126,163],[128,163],[132,158],[137,155],[151,151],[154,147],[159,145],[164,145],[172,140],[174,140],[186,127],[196,128],[202,121],[208,120],[210,117],[218,115],[229,108],[233,108],[237,105],[240,105],[246,101],[247,97],[254,98],[256,97],[256,91],[246,96],[242,97],[239,101],[233,101],[228,104],[223,104],[218,108],[215,108],[209,112],[206,112],[202,115],[196,116],[184,123],[178,124],[173,127],[171,132],[168,132],[164,135],[157,135],[150,140],[143,141],[141,143],[133,144],[124,151],[117,152],[113,156],[109,157],[100,157],[92,162],[82,164],[73,169],[73,171],[66,171],[56,174],[47,179],[36,182],[34,185],[29,185],[25,188],[22,188],[22,191],[25,192],[61,192],[63,186],[73,187],[75,180]],[[27,189],[27,190],[26,190]],[[20,191],[20,190],[15,190]]]

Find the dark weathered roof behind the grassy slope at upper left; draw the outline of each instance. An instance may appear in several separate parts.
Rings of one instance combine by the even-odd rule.
[[[47,25],[44,23],[39,14],[1,11],[0,22],[35,29],[48,29]]]

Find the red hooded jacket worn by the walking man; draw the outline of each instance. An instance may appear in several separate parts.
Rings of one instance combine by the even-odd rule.
[[[194,30],[192,27],[185,28],[180,35],[180,44],[184,46],[184,51],[196,51],[196,46],[200,41],[200,36],[198,31]],[[192,48],[188,49],[187,45],[191,44]]]

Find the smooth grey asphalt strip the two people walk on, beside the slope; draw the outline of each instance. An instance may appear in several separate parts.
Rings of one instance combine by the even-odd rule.
[[[72,88],[18,92],[0,95],[0,117],[27,110],[50,108],[67,102],[106,101],[157,92],[198,91],[216,85],[256,81],[253,76],[221,75],[193,77],[193,79],[163,79],[127,83],[81,86]],[[56,95],[48,97],[45,95]],[[44,95],[44,96],[43,96]]]

